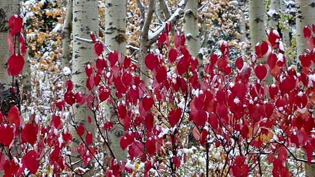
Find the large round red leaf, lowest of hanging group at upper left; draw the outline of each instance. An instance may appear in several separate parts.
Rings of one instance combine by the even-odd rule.
[[[13,54],[8,59],[8,74],[11,76],[19,76],[24,67],[24,58],[20,54]]]

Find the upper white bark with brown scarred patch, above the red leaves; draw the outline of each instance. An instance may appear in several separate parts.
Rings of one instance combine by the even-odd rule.
[[[126,0],[106,0],[105,44],[126,54]]]

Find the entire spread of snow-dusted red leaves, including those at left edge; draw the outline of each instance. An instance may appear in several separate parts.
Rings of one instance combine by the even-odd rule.
[[[8,43],[13,52],[15,45],[12,37],[23,26],[19,19],[13,16],[9,22],[12,36],[11,39],[8,37]],[[169,43],[171,27],[167,24],[165,28],[166,32],[160,35],[158,45],[167,46]],[[87,90],[84,93],[75,92],[73,83],[67,81],[64,101],[57,101],[56,110],[52,109],[54,113],[60,111],[61,116],[54,114],[51,123],[44,126],[35,115],[23,125],[23,118],[16,107],[11,108],[7,117],[0,114],[0,132],[7,135],[0,137],[0,142],[5,148],[12,149],[14,138],[19,138],[21,134],[23,154],[21,161],[12,155],[5,159],[2,151],[0,170],[4,169],[6,177],[12,174],[19,177],[25,168],[35,174],[40,161],[49,154],[49,164],[54,166],[54,174],[62,174],[72,167],[63,156],[63,149],[72,141],[71,133],[77,133],[83,140],[72,151],[77,150],[81,154],[83,165],[91,164],[97,153],[93,146],[93,134],[81,123],[75,127],[76,132],[64,128],[62,115],[65,103],[70,106],[75,103],[87,104],[88,108],[101,114],[99,104],[107,101],[116,105],[119,121],[97,122],[96,118],[92,120],[89,116],[88,122],[96,121],[97,127],[102,124],[104,132],[111,130],[114,123],[122,124],[127,133],[120,138],[120,146],[128,150],[131,162],[140,160],[144,163],[145,177],[149,176],[151,169],[175,174],[182,163],[187,163],[186,154],[178,151],[179,139],[182,138],[178,132],[184,120],[194,123],[193,134],[201,146],[213,144],[224,149],[225,167],[231,176],[261,173],[260,167],[252,166],[260,161],[262,152],[267,153],[268,161],[274,164],[272,173],[275,177],[289,176],[285,166],[287,147],[304,148],[308,163],[312,162],[315,149],[315,121],[312,115],[315,70],[310,69],[315,58],[312,30],[314,32],[314,25],[304,29],[310,52],[301,57],[301,73],[285,66],[280,35],[274,29],[267,29],[268,40],[255,46],[256,52],[251,59],[236,59],[235,70],[229,65],[229,46],[223,42],[221,56],[213,54],[205,64],[205,77],[201,82],[198,79],[198,59],[189,54],[185,35],[175,34],[175,48],[168,50],[167,59],[152,53],[145,58],[146,66],[152,71],[152,84],[144,83],[135,74],[137,66],[120,52],[111,52],[106,58],[103,57],[103,46],[96,42],[92,33],[98,58],[85,68]],[[23,43],[21,37],[20,41]],[[22,57],[19,56],[12,53],[11,61],[8,61],[8,73],[13,76],[23,69],[23,65],[22,68],[21,65],[10,66],[13,61],[19,62]],[[267,58],[267,62],[259,64],[262,58]],[[170,71],[175,74],[169,74]],[[269,74],[275,80],[270,86],[264,82]],[[167,109],[161,111],[160,105]],[[273,132],[273,127],[281,133]],[[45,151],[46,148],[50,150]],[[168,162],[167,165],[160,160],[161,157]],[[129,163],[111,159],[109,169],[103,170],[106,177],[119,177],[125,171],[135,173],[133,168]],[[84,173],[80,169],[74,172]]]

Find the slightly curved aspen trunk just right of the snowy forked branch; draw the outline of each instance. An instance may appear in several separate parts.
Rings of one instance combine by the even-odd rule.
[[[188,0],[185,7],[184,31],[186,35],[186,44],[190,55],[199,59],[199,80],[203,78],[202,56],[199,56],[201,47],[198,28],[198,2],[197,0]]]

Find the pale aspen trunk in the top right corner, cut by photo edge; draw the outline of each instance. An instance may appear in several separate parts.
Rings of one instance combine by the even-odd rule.
[[[297,61],[300,62],[303,51],[307,49],[303,28],[315,23],[315,2],[314,0],[295,0],[295,2],[297,12],[295,16]]]

